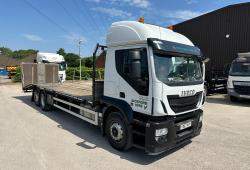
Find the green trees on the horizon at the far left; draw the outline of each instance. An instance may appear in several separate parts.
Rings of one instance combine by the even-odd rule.
[[[32,54],[36,54],[38,52],[37,50],[33,50],[33,49],[12,51],[11,49],[6,48],[6,47],[0,47],[0,51],[1,51],[1,54],[5,56],[13,57],[17,59],[22,59]]]

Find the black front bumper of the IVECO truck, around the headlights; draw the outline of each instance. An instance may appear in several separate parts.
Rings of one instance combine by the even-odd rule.
[[[197,110],[185,115],[169,117],[166,121],[148,122],[145,134],[145,151],[148,154],[157,155],[178,147],[199,135],[202,128],[202,121],[200,122],[199,119],[202,115],[203,111]],[[180,130],[180,126],[186,122],[191,122],[191,127]],[[168,128],[168,133],[156,141],[155,130],[161,128]]]

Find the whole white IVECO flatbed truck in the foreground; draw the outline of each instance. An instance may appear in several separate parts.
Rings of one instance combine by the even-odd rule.
[[[135,21],[112,24],[104,81],[34,84],[32,99],[100,127],[111,146],[159,154],[200,134],[204,58],[185,36]]]

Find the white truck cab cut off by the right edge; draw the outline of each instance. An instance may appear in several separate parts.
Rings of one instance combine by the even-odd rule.
[[[227,91],[231,101],[250,99],[250,52],[238,53],[238,57],[232,62]]]

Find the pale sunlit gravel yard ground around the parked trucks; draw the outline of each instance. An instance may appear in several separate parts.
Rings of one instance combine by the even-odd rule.
[[[20,84],[0,84],[0,170],[250,169],[250,102],[209,96],[200,136],[159,156],[114,150],[98,128],[62,111],[43,112]]]

